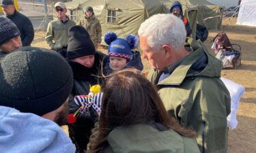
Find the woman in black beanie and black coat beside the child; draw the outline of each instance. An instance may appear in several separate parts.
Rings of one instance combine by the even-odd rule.
[[[105,54],[96,51],[89,33],[81,26],[69,30],[68,48],[59,50],[72,67],[74,85],[68,101],[70,114],[74,114],[79,106],[74,102],[76,95],[88,95],[89,87],[100,84],[101,67]],[[76,122],[68,125],[70,138],[78,152],[87,150],[87,143],[94,128],[96,117],[78,116]]]

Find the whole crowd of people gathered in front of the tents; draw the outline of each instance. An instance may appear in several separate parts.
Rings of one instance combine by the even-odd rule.
[[[76,25],[66,5],[55,3],[47,50],[30,46],[33,26],[12,0],[1,6],[1,152],[227,152],[223,66],[188,37],[179,2],[141,23],[139,37],[104,34],[108,54],[98,50],[102,31],[92,7]],[[94,85],[102,96],[90,95]]]

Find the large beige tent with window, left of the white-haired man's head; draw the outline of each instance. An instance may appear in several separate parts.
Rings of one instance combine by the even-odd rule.
[[[165,13],[165,5],[158,0],[82,0],[66,3],[70,16],[76,22],[84,16],[85,8],[94,8],[96,17],[100,20],[102,33],[113,31],[119,37],[133,33],[137,34],[140,24],[150,16]]]

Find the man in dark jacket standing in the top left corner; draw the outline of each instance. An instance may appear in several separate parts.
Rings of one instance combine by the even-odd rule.
[[[12,20],[14,24],[18,27],[20,31],[20,38],[23,42],[24,46],[30,46],[33,41],[34,31],[33,25],[27,16],[20,14],[15,10],[14,2],[12,0],[3,0],[1,2],[1,6],[3,7],[3,12],[6,17]]]

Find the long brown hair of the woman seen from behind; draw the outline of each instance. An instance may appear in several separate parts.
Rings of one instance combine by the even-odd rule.
[[[154,86],[137,69],[117,71],[107,78],[98,126],[89,141],[89,152],[107,145],[106,137],[117,126],[160,122],[180,135],[195,137],[167,113]]]

